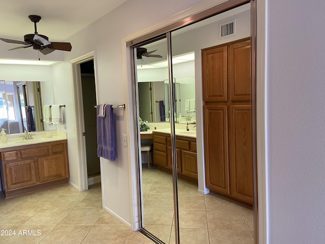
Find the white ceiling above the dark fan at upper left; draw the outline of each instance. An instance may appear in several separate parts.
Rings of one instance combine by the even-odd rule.
[[[37,23],[39,34],[53,42],[62,42],[99,19],[126,0],[1,0],[0,37],[23,41],[34,33],[28,15],[42,17]]]

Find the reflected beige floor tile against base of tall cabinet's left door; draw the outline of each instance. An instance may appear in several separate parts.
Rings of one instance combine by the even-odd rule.
[[[206,209],[209,211],[241,211],[240,203],[236,203],[233,200],[216,196],[206,195],[205,196]]]

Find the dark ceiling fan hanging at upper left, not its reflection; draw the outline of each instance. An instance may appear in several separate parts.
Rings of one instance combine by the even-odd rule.
[[[19,49],[19,48],[27,48],[32,47],[35,50],[39,50],[44,55],[53,52],[54,50],[62,50],[62,51],[71,51],[72,46],[69,42],[49,42],[47,36],[38,34],[36,23],[41,20],[41,17],[38,15],[29,15],[28,18],[31,22],[34,22],[35,33],[34,34],[27,34],[24,36],[24,41],[16,41],[11,39],[0,38],[0,40],[8,43],[15,43],[15,44],[23,44],[25,46],[15,47],[10,50]]]

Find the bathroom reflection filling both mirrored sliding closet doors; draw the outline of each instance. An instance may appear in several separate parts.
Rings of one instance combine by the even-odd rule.
[[[171,32],[180,243],[254,242],[249,37],[250,4]],[[137,60],[142,227],[175,243],[167,45],[141,47],[163,56]]]

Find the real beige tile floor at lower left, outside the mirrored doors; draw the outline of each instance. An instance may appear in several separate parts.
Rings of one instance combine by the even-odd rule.
[[[0,244],[11,243],[146,244],[151,241],[131,231],[102,208],[101,185],[96,184],[85,192],[62,185],[10,199],[0,193]]]

